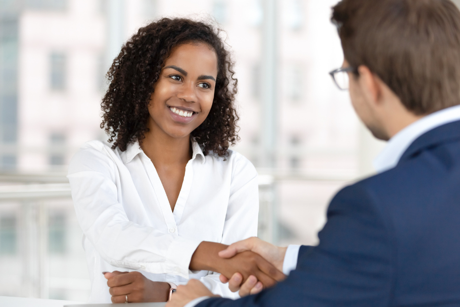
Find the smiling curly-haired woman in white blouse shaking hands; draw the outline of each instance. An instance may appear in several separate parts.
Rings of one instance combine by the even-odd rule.
[[[256,254],[217,256],[257,233],[256,170],[228,149],[238,139],[232,66],[218,31],[188,19],[139,29],[114,60],[101,103],[113,145],[86,143],[68,175],[90,302],[165,301],[189,278],[234,297],[214,272],[257,275],[264,285],[281,278]],[[149,282],[134,291],[125,278],[111,297],[101,273],[126,269]]]

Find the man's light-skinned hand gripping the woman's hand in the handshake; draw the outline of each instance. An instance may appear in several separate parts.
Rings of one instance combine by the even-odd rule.
[[[249,238],[230,245],[226,250],[219,252],[219,256],[228,258],[244,251],[252,251],[271,262],[279,271],[282,271],[284,255],[287,248],[277,247],[258,238]],[[244,283],[240,273],[234,273],[230,280],[224,276],[220,276],[223,283],[229,283],[230,291],[236,292],[239,290],[241,297],[249,294],[257,294],[262,291],[262,284],[253,275],[249,276]]]

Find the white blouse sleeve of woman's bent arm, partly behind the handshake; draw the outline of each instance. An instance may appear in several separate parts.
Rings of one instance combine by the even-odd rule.
[[[257,171],[252,163],[242,155],[235,161],[232,170],[230,199],[222,236],[223,244],[232,244],[257,236],[259,219],[259,185]],[[213,293],[225,298],[238,299],[238,293],[230,291],[228,284],[213,273],[200,279]]]

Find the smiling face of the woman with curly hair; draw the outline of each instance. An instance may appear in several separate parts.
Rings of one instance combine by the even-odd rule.
[[[188,136],[209,114],[217,78],[217,54],[206,44],[176,47],[150,96],[148,127],[173,138]]]

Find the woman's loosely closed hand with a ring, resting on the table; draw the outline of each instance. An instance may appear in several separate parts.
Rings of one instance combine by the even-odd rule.
[[[151,281],[140,272],[105,273],[107,286],[110,287],[112,303],[166,302],[171,286],[166,282]]]

